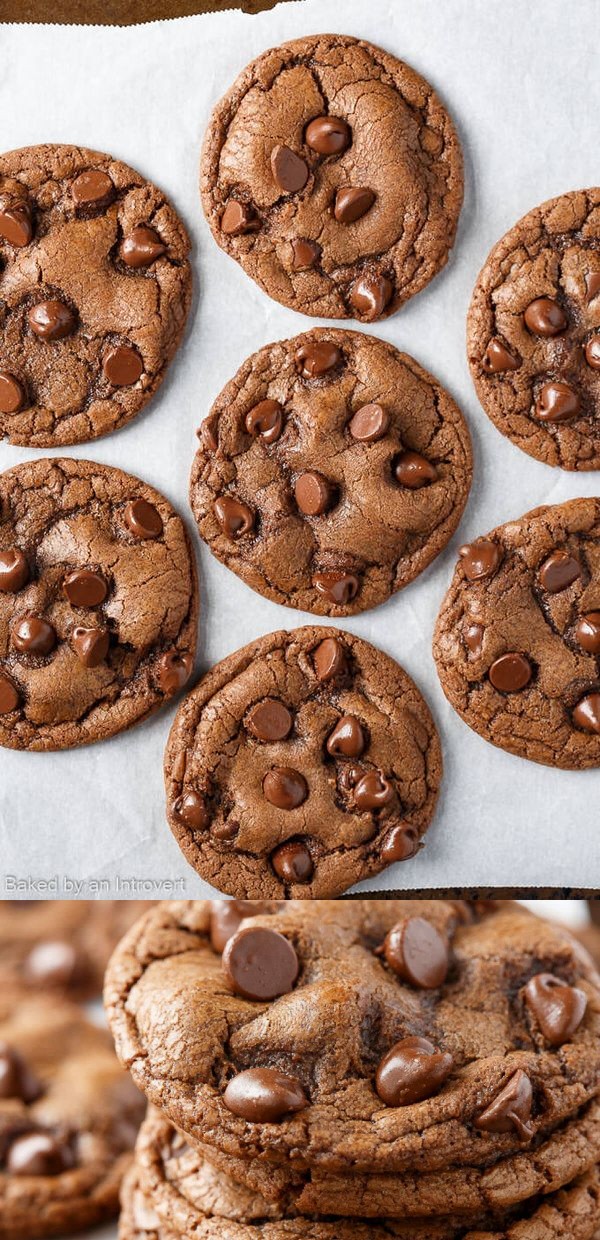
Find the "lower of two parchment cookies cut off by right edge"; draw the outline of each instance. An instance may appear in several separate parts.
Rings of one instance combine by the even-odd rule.
[[[461,547],[434,656],[461,718],[549,766],[600,766],[600,500],[534,508]]]

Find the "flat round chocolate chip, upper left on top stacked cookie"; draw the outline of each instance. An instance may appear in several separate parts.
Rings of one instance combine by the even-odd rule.
[[[223,951],[223,972],[236,994],[265,1002],[291,991],[300,965],[291,942],[278,930],[245,926]]]

